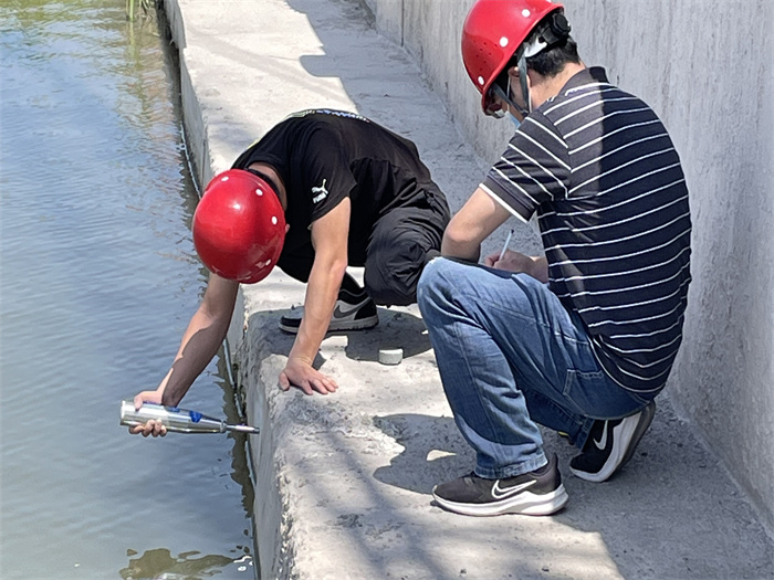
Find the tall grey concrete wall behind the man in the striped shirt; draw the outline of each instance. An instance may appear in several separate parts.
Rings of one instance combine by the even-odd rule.
[[[479,114],[459,52],[473,0],[366,0],[484,159],[510,125]],[[774,526],[772,0],[566,0],[582,57],[661,116],[691,191],[694,282],[669,393]]]

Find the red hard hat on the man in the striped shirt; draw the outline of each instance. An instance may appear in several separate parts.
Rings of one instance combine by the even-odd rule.
[[[537,23],[564,8],[550,0],[478,0],[462,25],[462,61],[487,113],[494,80]]]

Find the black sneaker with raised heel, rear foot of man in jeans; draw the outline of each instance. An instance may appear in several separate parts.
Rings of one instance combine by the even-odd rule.
[[[583,453],[569,462],[569,471],[588,482],[606,481],[635,454],[655,414],[656,403],[650,401],[641,411],[624,419],[595,421]]]

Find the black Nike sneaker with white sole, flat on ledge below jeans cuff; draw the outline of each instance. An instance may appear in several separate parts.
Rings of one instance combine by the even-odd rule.
[[[484,479],[471,473],[437,485],[432,497],[441,507],[466,516],[548,516],[567,503],[556,455],[540,470],[505,479]]]

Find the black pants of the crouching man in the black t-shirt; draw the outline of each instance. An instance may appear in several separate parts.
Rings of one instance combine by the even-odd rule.
[[[365,289],[383,306],[407,306],[417,302],[419,276],[432,257],[440,254],[443,230],[450,213],[443,193],[435,183],[409,204],[391,208],[372,229],[365,263],[353,260],[362,254],[351,249],[351,266],[365,266]],[[289,276],[307,282],[314,256],[285,257],[280,266]]]

